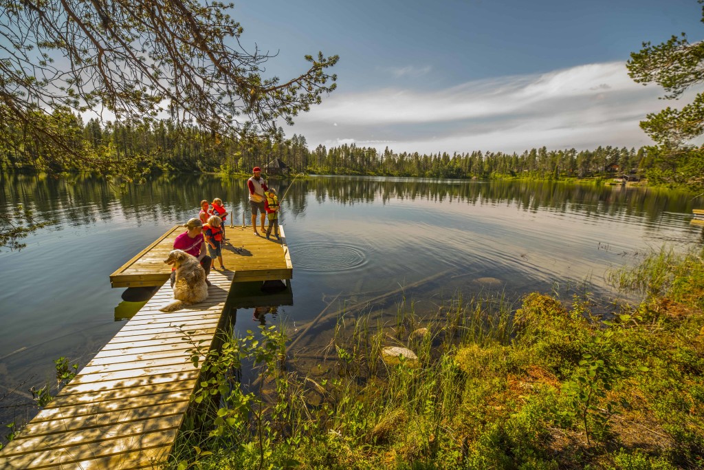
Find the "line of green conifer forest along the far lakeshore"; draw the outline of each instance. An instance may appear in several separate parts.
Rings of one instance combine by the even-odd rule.
[[[196,126],[177,126],[169,120],[153,120],[141,125],[87,123],[77,116],[63,116],[77,147],[101,156],[99,161],[129,161],[142,174],[152,170],[248,173],[272,159],[282,159],[296,173],[337,175],[392,175],[429,178],[492,178],[525,176],[532,178],[584,178],[605,173],[655,168],[648,147],[640,149],[597,147],[593,150],[530,149],[522,154],[501,151],[471,151],[453,154],[395,152],[386,147],[339,147],[319,145],[308,149],[306,137],[290,139],[251,138],[248,140],[203,131]],[[36,170],[49,173],[95,171],[90,162],[75,159],[47,159],[42,143],[26,140],[21,128],[5,128],[6,139],[0,149],[4,171]],[[127,166],[127,165],[125,165]],[[99,170],[99,168],[98,168]]]

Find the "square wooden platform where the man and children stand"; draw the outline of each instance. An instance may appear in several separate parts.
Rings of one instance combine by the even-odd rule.
[[[173,248],[177,235],[185,228],[176,225],[161,235],[149,247],[127,261],[110,275],[113,287],[146,287],[162,285],[171,272],[164,260]],[[230,244],[222,250],[222,261],[227,271],[234,271],[234,281],[282,280],[291,279],[293,266],[289,248],[286,245],[284,229],[279,227],[281,240],[267,240],[253,235],[249,227],[225,227],[225,235]],[[241,247],[237,252],[234,247]],[[215,267],[220,263],[215,260]]]

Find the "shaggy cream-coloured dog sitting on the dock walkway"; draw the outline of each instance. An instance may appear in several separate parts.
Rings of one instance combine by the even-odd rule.
[[[174,283],[174,301],[161,307],[161,311],[176,311],[190,304],[203,302],[208,298],[208,285],[206,284],[206,270],[201,266],[195,256],[175,249],[169,253],[164,261],[176,268],[176,282]]]

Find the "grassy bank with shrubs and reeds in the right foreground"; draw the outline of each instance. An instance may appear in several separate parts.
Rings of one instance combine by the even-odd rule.
[[[498,297],[423,320],[404,302],[392,321],[343,316],[315,351],[287,351],[275,327],[227,340],[171,466],[704,468],[703,255],[612,273],[643,302],[608,318],[534,293],[515,311]],[[417,359],[382,360],[387,346]]]

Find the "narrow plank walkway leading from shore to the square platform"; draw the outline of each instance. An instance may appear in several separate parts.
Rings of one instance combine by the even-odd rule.
[[[172,298],[166,282],[0,451],[0,468],[159,468],[199,378],[177,326],[194,331],[192,338],[204,340],[207,350],[227,319],[234,273],[215,271],[208,278],[213,285],[206,302],[170,314],[158,311]]]

